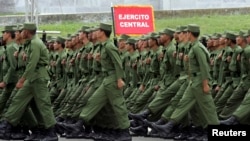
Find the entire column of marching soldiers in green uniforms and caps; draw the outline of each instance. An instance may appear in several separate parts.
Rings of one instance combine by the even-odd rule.
[[[189,24],[117,45],[104,23],[45,44],[35,31],[3,30],[1,139],[205,141],[208,125],[250,124],[250,30]]]

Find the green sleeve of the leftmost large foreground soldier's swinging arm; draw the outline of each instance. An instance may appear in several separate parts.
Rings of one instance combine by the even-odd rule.
[[[41,45],[36,41],[31,42],[30,54],[28,54],[29,60],[22,76],[25,79],[28,77],[29,74],[32,74],[36,69],[40,57],[40,46]]]

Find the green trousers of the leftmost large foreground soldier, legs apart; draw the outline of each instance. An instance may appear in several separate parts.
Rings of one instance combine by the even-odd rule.
[[[56,120],[51,109],[47,80],[43,78],[36,79],[33,82],[29,80],[24,82],[23,87],[13,97],[11,105],[5,114],[5,119],[13,126],[16,126],[33,98],[41,114],[44,127],[50,128],[54,126]]]

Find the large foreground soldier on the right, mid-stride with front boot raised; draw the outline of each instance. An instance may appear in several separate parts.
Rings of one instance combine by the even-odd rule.
[[[161,131],[162,134],[169,134],[174,125],[179,123],[191,109],[194,109],[196,104],[200,107],[196,108],[197,112],[202,117],[205,117],[207,125],[219,124],[209,86],[209,53],[198,41],[199,34],[199,26],[195,24],[188,25],[188,38],[191,42],[191,49],[188,54],[189,85],[169,122],[164,125],[153,124],[154,129]]]

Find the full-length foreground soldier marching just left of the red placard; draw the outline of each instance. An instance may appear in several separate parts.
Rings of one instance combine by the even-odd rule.
[[[129,119],[128,112],[125,106],[125,100],[122,95],[122,88],[125,85],[122,78],[124,72],[121,64],[117,48],[109,39],[112,32],[112,26],[109,24],[100,23],[98,30],[98,40],[101,42],[101,65],[102,72],[105,77],[100,87],[88,99],[87,104],[83,107],[80,114],[80,120],[75,124],[68,124],[66,128],[71,132],[84,132],[83,125],[90,120],[107,104],[115,113],[115,120],[118,122],[116,134],[110,136],[114,140],[131,141],[129,135]]]

